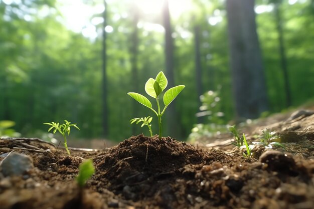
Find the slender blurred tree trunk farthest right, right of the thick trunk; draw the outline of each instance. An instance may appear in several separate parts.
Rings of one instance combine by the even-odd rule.
[[[276,16],[276,23],[277,23],[280,64],[281,64],[281,69],[282,69],[282,73],[283,73],[284,91],[285,91],[285,95],[286,95],[286,107],[289,107],[289,106],[291,106],[291,94],[290,94],[287,58],[286,58],[285,48],[284,48],[284,44],[283,44],[282,19],[281,19],[279,7],[280,7],[279,4],[275,4],[274,10],[275,10],[275,16]]]

